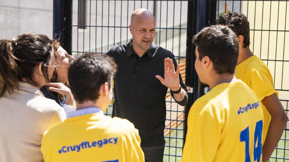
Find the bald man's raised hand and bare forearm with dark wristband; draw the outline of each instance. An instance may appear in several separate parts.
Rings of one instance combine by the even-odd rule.
[[[181,75],[179,74],[179,70],[180,65],[176,66],[175,71],[173,60],[166,58],[164,59],[164,78],[159,75],[155,77],[158,78],[163,85],[171,89],[171,94],[178,104],[185,106],[188,103],[188,90],[186,85],[183,83]],[[179,93],[172,93],[172,91],[178,91],[180,86],[181,91]]]

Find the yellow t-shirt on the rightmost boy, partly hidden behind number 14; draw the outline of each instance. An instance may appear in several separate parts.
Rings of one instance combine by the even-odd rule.
[[[267,65],[257,56],[251,56],[249,59],[237,65],[235,69],[236,78],[246,83],[259,97],[264,114],[263,143],[266,139],[271,115],[264,106],[262,99],[266,96],[278,92],[274,89],[273,78]]]

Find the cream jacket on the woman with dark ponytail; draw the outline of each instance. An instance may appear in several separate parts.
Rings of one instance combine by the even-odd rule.
[[[25,82],[0,98],[0,161],[43,161],[43,133],[66,119],[63,108]]]

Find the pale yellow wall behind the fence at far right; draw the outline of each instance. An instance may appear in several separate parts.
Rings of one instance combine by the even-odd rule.
[[[282,90],[289,90],[289,62],[283,62],[289,61],[288,10],[289,3],[286,1],[242,2],[242,13],[250,22],[250,48],[261,59],[278,60],[264,62],[275,80],[275,89]],[[288,100],[289,92],[279,91],[279,98]],[[284,107],[287,107],[286,102]]]

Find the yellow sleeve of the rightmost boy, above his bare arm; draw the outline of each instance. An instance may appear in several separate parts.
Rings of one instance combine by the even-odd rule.
[[[249,81],[252,87],[252,90],[257,94],[259,99],[262,101],[264,97],[273,95],[278,92],[273,87],[273,79],[264,70],[256,70],[251,72]]]

